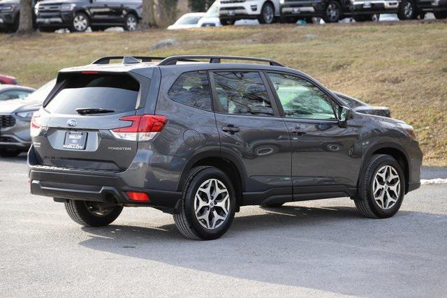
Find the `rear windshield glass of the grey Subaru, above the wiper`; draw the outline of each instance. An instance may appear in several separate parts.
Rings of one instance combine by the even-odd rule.
[[[129,112],[135,110],[139,90],[140,84],[129,75],[69,76],[45,109],[60,114],[78,114],[77,109]]]

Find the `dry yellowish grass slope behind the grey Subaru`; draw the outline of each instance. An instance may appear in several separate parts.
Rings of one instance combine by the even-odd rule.
[[[422,24],[424,23],[424,24]],[[57,70],[106,55],[226,54],[268,57],[332,90],[416,128],[425,165],[447,166],[447,22],[296,26],[274,24],[186,31],[0,35],[0,73],[38,87]],[[177,44],[149,52],[160,40]]]

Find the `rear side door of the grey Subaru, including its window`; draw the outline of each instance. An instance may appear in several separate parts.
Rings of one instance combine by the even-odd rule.
[[[210,77],[221,151],[246,172],[244,204],[291,200],[290,136],[263,73],[216,70]]]

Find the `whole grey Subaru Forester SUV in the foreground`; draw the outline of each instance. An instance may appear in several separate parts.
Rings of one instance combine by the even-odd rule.
[[[64,202],[76,223],[154,207],[191,239],[221,237],[246,205],[349,197],[388,218],[420,186],[423,157],[403,121],[354,112],[312,77],[247,57],[66,68],[31,136],[31,193]]]

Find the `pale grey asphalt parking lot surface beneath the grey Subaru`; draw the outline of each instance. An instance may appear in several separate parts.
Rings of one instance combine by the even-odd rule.
[[[0,297],[446,295],[447,184],[383,220],[348,198],[242,207],[221,239],[189,241],[147,208],[82,228],[29,194],[24,156],[0,168]]]

